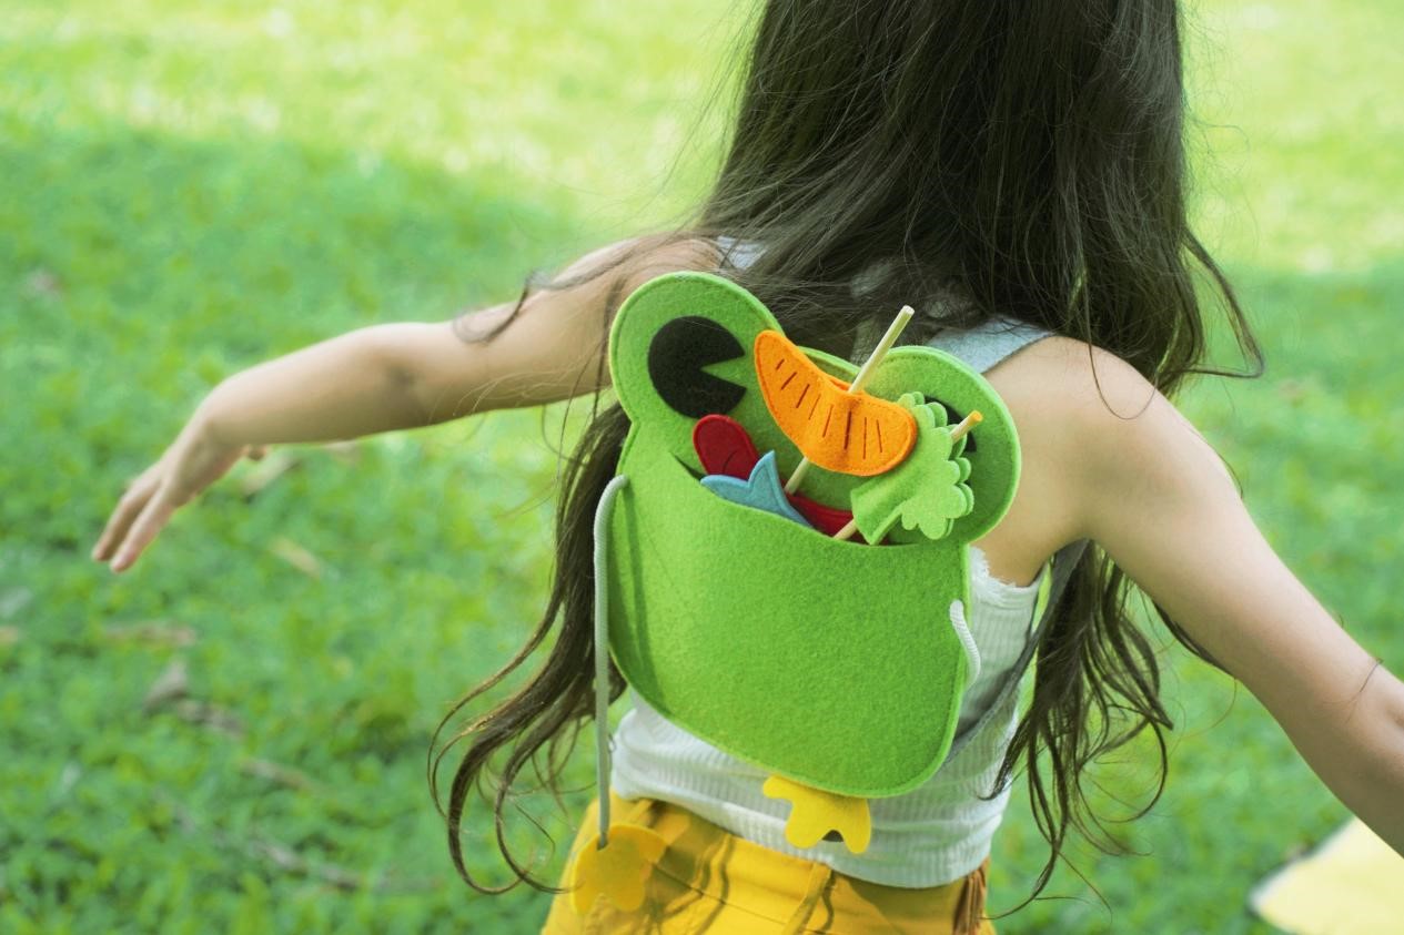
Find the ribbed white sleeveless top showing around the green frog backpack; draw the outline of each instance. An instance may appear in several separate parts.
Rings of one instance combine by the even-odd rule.
[[[984,553],[970,546],[970,606],[966,621],[980,650],[980,675],[962,699],[958,737],[997,701],[1000,687],[1024,650],[1047,567],[1026,587],[990,574]],[[673,724],[635,692],[614,737],[611,785],[625,799],[649,797],[688,809],[727,831],[783,854],[833,866],[873,883],[939,886],[974,870],[1009,799],[993,799],[995,774],[1014,736],[1018,692],[920,789],[872,799],[873,834],[863,854],[841,841],[799,849],[785,841],[789,804],[761,793],[765,771],[722,752]]]

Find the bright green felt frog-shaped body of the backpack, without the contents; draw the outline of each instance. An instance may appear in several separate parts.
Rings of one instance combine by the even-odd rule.
[[[914,789],[955,733],[969,663],[951,608],[969,599],[965,545],[1014,494],[1012,421],[958,359],[893,348],[868,385],[873,396],[894,403],[921,393],[986,414],[974,430],[980,456],[969,456],[974,508],[939,541],[880,549],[834,541],[698,483],[695,421],[664,400],[647,369],[653,336],[682,316],[716,321],[743,348],[778,330],[754,296],[708,274],[653,279],[615,317],[611,376],[632,423],[618,466],[629,486],[609,519],[615,663],[665,717],[769,772],[854,797]],[[835,392],[856,372],[804,354]],[[706,373],[757,389],[729,416],[775,452],[781,476],[792,472],[799,451],[771,417],[754,361],[722,361]],[[816,466],[804,487],[833,505],[861,483]]]

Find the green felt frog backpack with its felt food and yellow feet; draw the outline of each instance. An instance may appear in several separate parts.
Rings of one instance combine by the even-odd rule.
[[[951,752],[979,670],[966,546],[1014,498],[1019,444],[980,373],[887,350],[899,330],[859,371],[710,274],[658,277],[619,309],[609,373],[630,428],[594,525],[600,833],[570,872],[578,911],[601,893],[637,908],[665,849],[611,824],[609,657],[670,722],[769,774],[797,848],[862,852],[868,800]]]

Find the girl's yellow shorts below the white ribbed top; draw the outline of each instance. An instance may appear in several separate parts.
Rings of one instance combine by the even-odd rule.
[[[598,807],[595,800],[585,811],[571,856],[598,830]],[[988,861],[965,879],[911,890],[868,883],[771,851],[665,802],[612,797],[612,809],[616,821],[650,827],[668,842],[649,877],[643,907],[625,914],[600,897],[581,915],[571,908],[570,896],[560,894],[550,904],[542,935],[994,935],[983,918]]]

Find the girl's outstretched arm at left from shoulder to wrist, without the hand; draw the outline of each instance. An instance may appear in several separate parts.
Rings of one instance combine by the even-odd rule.
[[[490,341],[515,303],[439,323],[378,324],[260,364],[220,383],[192,421],[225,446],[331,441],[417,428],[493,409],[592,392],[612,295],[689,258],[681,248],[590,253],[562,274],[583,281],[541,289]],[[598,275],[594,275],[598,274]],[[585,278],[588,277],[588,278]]]

